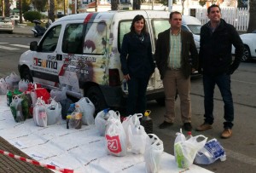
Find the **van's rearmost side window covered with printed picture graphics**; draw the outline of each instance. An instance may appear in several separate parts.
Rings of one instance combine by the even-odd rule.
[[[87,55],[103,55],[107,52],[108,27],[104,20],[87,23],[84,37],[83,53]]]

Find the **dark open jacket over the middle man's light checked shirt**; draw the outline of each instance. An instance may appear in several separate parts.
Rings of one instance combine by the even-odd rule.
[[[198,53],[195,48],[195,41],[190,32],[181,30],[181,70],[185,78],[189,78],[191,68],[198,68]],[[160,78],[163,79],[166,73],[170,53],[170,29],[160,32],[156,42],[154,58],[156,66],[160,71]]]

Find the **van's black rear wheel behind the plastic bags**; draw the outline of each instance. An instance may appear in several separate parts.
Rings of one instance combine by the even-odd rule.
[[[107,108],[107,103],[105,101],[104,95],[102,94],[101,89],[97,86],[92,86],[88,89],[86,96],[90,99],[90,101],[94,104],[95,107],[95,115],[97,112],[102,111]]]

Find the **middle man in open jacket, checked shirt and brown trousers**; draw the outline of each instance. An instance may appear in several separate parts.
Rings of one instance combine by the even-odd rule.
[[[154,55],[166,95],[165,120],[159,127],[164,129],[173,124],[177,91],[183,128],[190,131],[190,74],[198,67],[198,53],[192,33],[181,30],[182,15],[177,11],[172,12],[169,22],[171,28],[159,34]]]

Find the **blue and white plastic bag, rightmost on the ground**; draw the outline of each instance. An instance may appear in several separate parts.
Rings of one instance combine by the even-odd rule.
[[[220,145],[217,139],[207,141],[206,145],[196,153],[195,164],[212,164],[216,160],[226,160],[224,148]]]

